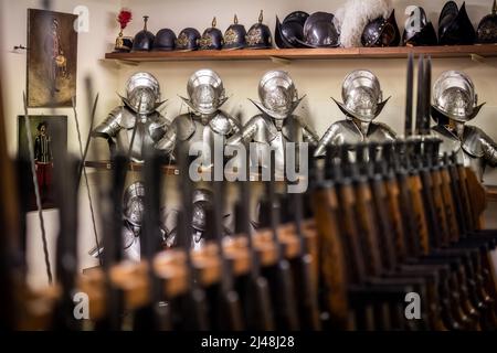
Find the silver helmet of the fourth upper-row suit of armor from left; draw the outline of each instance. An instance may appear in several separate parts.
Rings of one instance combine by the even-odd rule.
[[[340,110],[363,122],[373,120],[388,101],[382,101],[378,77],[367,69],[356,69],[347,75],[341,86],[341,97],[343,103],[334,99]]]

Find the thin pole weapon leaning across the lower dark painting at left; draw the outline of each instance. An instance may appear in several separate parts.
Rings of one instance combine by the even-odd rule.
[[[46,277],[49,277],[49,284],[52,285],[52,282],[53,282],[52,266],[50,264],[49,245],[46,242],[45,223],[43,220],[42,204],[41,204],[41,197],[40,197],[40,185],[38,184],[36,167],[34,164],[33,137],[31,135],[31,125],[30,125],[29,115],[28,115],[28,99],[25,97],[24,92],[22,93],[22,97],[23,97],[23,103],[24,103],[25,135],[28,138],[28,149],[29,149],[30,162],[31,162],[31,174],[33,175],[34,195],[36,199],[38,216],[40,218],[40,228],[41,228],[41,233],[42,233],[43,255],[45,258]]]

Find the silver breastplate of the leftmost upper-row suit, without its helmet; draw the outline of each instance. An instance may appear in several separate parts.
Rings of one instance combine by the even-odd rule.
[[[169,122],[156,111],[141,119],[138,118],[136,124],[130,159],[134,162],[142,162],[145,150],[154,148],[155,143],[166,133]],[[118,150],[127,154],[135,130],[135,116],[127,109],[123,109],[120,126],[121,129],[117,131],[115,139]]]

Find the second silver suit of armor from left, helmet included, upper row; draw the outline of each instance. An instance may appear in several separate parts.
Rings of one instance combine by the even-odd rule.
[[[222,81],[215,72],[195,72],[190,77],[187,89],[189,98],[181,98],[191,111],[177,116],[157,146],[169,153],[173,152],[177,142],[187,143],[188,150],[193,145],[204,146],[202,164],[210,167],[211,156],[203,151],[209,150],[214,141],[224,148],[226,140],[240,131],[240,125],[236,119],[220,109],[228,98],[224,96]]]

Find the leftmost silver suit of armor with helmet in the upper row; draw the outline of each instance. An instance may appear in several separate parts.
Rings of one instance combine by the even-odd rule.
[[[92,136],[107,139],[112,153],[116,148],[125,154],[130,150],[130,159],[142,162],[145,149],[157,148],[169,126],[157,111],[163,103],[159,101],[159,83],[149,73],[137,73],[126,84],[126,98],[120,98],[123,105],[110,111]]]

